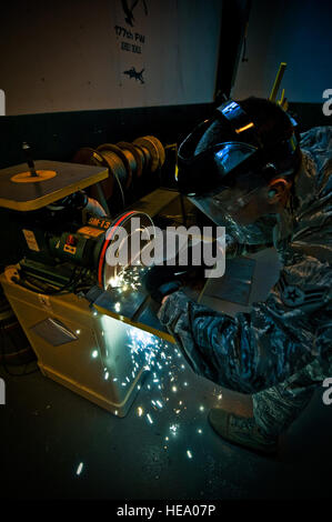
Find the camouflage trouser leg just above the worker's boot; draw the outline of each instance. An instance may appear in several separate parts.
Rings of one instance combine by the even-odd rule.
[[[325,378],[332,378],[332,357],[324,364],[315,360],[281,384],[252,395],[253,415],[263,432],[276,436],[285,431]]]

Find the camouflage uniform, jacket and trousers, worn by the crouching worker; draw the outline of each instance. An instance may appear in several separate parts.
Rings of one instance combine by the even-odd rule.
[[[269,435],[285,430],[332,377],[332,127],[301,138],[303,165],[273,229],[283,268],[266,301],[231,318],[180,290],[159,312],[197,373],[253,394],[254,419]]]

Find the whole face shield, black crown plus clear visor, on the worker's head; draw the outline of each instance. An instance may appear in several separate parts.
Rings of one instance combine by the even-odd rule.
[[[239,241],[260,242],[260,224],[255,224],[255,219],[262,209],[263,195],[266,197],[269,181],[289,164],[281,165],[280,158],[291,161],[296,148],[295,138],[263,147],[254,122],[237,102],[225,102],[217,113],[199,124],[181,143],[179,189]],[[212,126],[217,119],[221,124],[213,135]],[[212,135],[212,144],[208,141],[204,145],[207,133]],[[266,218],[263,221],[275,221],[269,212]]]

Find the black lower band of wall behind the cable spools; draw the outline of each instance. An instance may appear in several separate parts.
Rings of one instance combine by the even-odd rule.
[[[34,159],[70,161],[81,147],[132,141],[152,134],[174,143],[210,116],[212,104],[149,107],[101,111],[52,112],[0,118],[0,168],[24,161],[28,142]]]

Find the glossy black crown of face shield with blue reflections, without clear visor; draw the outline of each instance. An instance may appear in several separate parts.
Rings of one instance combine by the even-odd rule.
[[[207,193],[235,184],[247,172],[261,172],[266,181],[271,179],[268,164],[274,164],[279,173],[293,170],[299,147],[292,126],[290,119],[276,142],[271,138],[266,140],[263,130],[239,103],[232,100],[223,103],[180,144],[179,190],[188,195]]]

